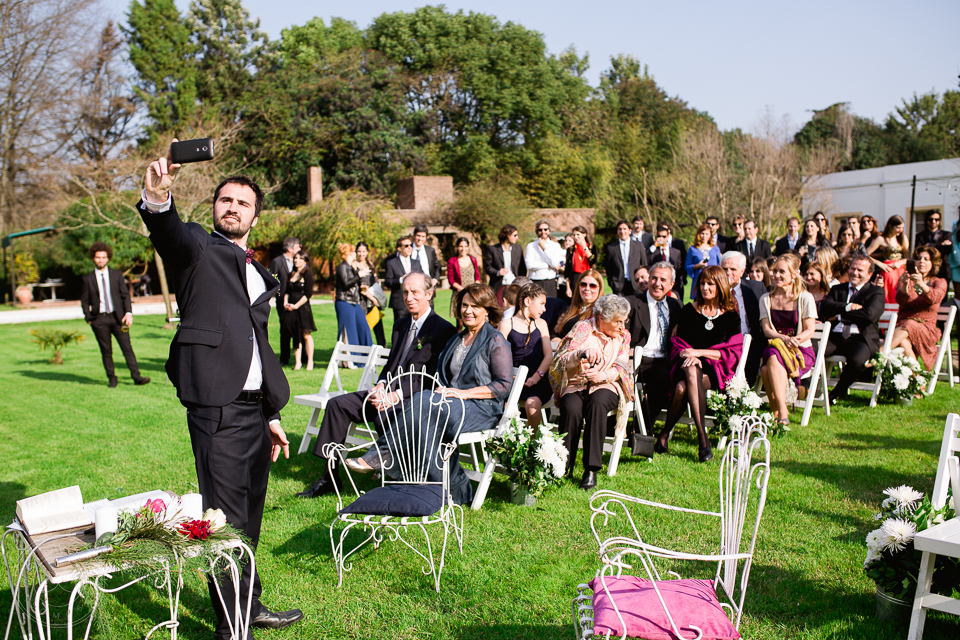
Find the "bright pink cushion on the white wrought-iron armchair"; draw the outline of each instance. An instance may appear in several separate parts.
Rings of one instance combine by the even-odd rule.
[[[635,576],[608,576],[604,582],[627,625],[627,636],[646,640],[676,640],[652,582]],[[684,637],[696,635],[689,628],[691,624],[703,630],[702,640],[735,640],[740,637],[720,607],[709,580],[664,580],[658,582],[657,586],[670,609],[673,622]],[[617,613],[603,590],[600,578],[591,580],[590,588],[593,589],[593,635],[603,637],[610,631],[614,636],[622,636],[623,629]]]

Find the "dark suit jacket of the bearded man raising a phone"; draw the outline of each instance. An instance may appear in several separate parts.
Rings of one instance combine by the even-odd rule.
[[[180,306],[180,327],[170,343],[167,375],[180,402],[223,407],[233,402],[247,380],[254,338],[263,367],[263,392],[279,419],[290,399],[290,386],[270,348],[267,320],[270,298],[280,283],[259,262],[252,264],[266,291],[250,304],[243,249],[209,233],[195,222],[184,223],[176,203],[164,213],[150,213],[137,203],[150,241],[170,265]]]

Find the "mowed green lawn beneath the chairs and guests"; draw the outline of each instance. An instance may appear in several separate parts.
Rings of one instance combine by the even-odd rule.
[[[437,309],[446,313],[449,293]],[[332,304],[315,304],[317,369],[289,371],[291,391],[314,392],[335,341]],[[388,318],[388,325],[392,318]],[[184,409],[164,384],[163,363],[173,335],[160,316],[137,317],[133,345],[153,384],[135,387],[115,349],[121,383],[108,389],[96,341],[82,321],[50,322],[87,340],[64,351],[65,364],[29,342],[28,325],[0,325],[0,517],[9,521],[17,499],[79,484],[86,500],[147,489],[196,489]],[[274,348],[278,335],[271,319]],[[389,326],[388,326],[389,335]],[[343,371],[347,385],[359,372]],[[939,384],[913,407],[867,406],[855,393],[831,418],[822,409],[772,443],[773,471],[740,631],[746,638],[899,638],[904,629],[874,619],[874,586],[862,572],[863,539],[881,491],[909,484],[933,487],[940,437],[960,387]],[[309,412],[284,408],[283,425],[295,451]],[[600,487],[715,509],[719,460],[697,464],[696,442],[678,431],[670,455],[653,463],[629,456]],[[294,496],[322,472],[312,454],[293,454],[273,466],[257,565],[264,603],[303,609],[303,623],[259,638],[571,638],[570,602],[576,585],[598,568],[589,525],[589,496],[576,483],[548,490],[536,508],[509,503],[497,478],[484,507],[467,511],[464,553],[448,550],[441,591],[433,590],[417,558],[400,543],[367,547],[337,588],[330,553],[332,497]],[[579,478],[579,466],[577,471]],[[369,486],[366,485],[366,486]],[[716,533],[689,520],[645,521],[650,541],[703,547]],[[415,536],[414,536],[415,537]],[[703,567],[700,577],[712,577]],[[114,584],[116,584],[116,580]],[[60,610],[68,592],[54,591]],[[10,604],[0,592],[0,607]],[[6,609],[3,609],[6,610]],[[106,596],[97,638],[143,637],[163,619],[165,604],[149,585]],[[180,610],[183,638],[211,635],[213,613],[205,585],[190,576]],[[60,630],[61,636],[65,635]],[[17,636],[14,631],[13,637]],[[158,631],[154,637],[165,637]],[[931,615],[926,638],[960,637],[960,619]]]

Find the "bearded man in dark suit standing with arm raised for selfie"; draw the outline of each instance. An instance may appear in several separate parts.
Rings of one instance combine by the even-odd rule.
[[[152,162],[137,204],[154,248],[171,268],[180,306],[167,374],[187,408],[204,508],[221,509],[256,549],[270,464],[281,450],[290,452],[280,426],[290,387],[267,334],[270,300],[280,284],[246,248],[263,192],[246,176],[225,179],[214,191],[214,231],[208,233],[177,214],[170,189],[179,169],[169,152]],[[233,582],[220,574],[209,589],[214,637],[230,637]],[[240,576],[241,602],[248,593],[254,627],[278,629],[303,618],[299,609],[272,612],[261,604],[260,576],[249,562]]]

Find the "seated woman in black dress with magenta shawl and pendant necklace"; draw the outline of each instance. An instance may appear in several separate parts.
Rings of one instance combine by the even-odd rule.
[[[726,386],[743,352],[737,301],[723,269],[709,266],[700,272],[696,297],[680,310],[671,343],[673,400],[654,451],[667,452],[667,438],[680,420],[686,400],[697,427],[700,462],[706,462],[713,458],[704,426],[707,390]]]

